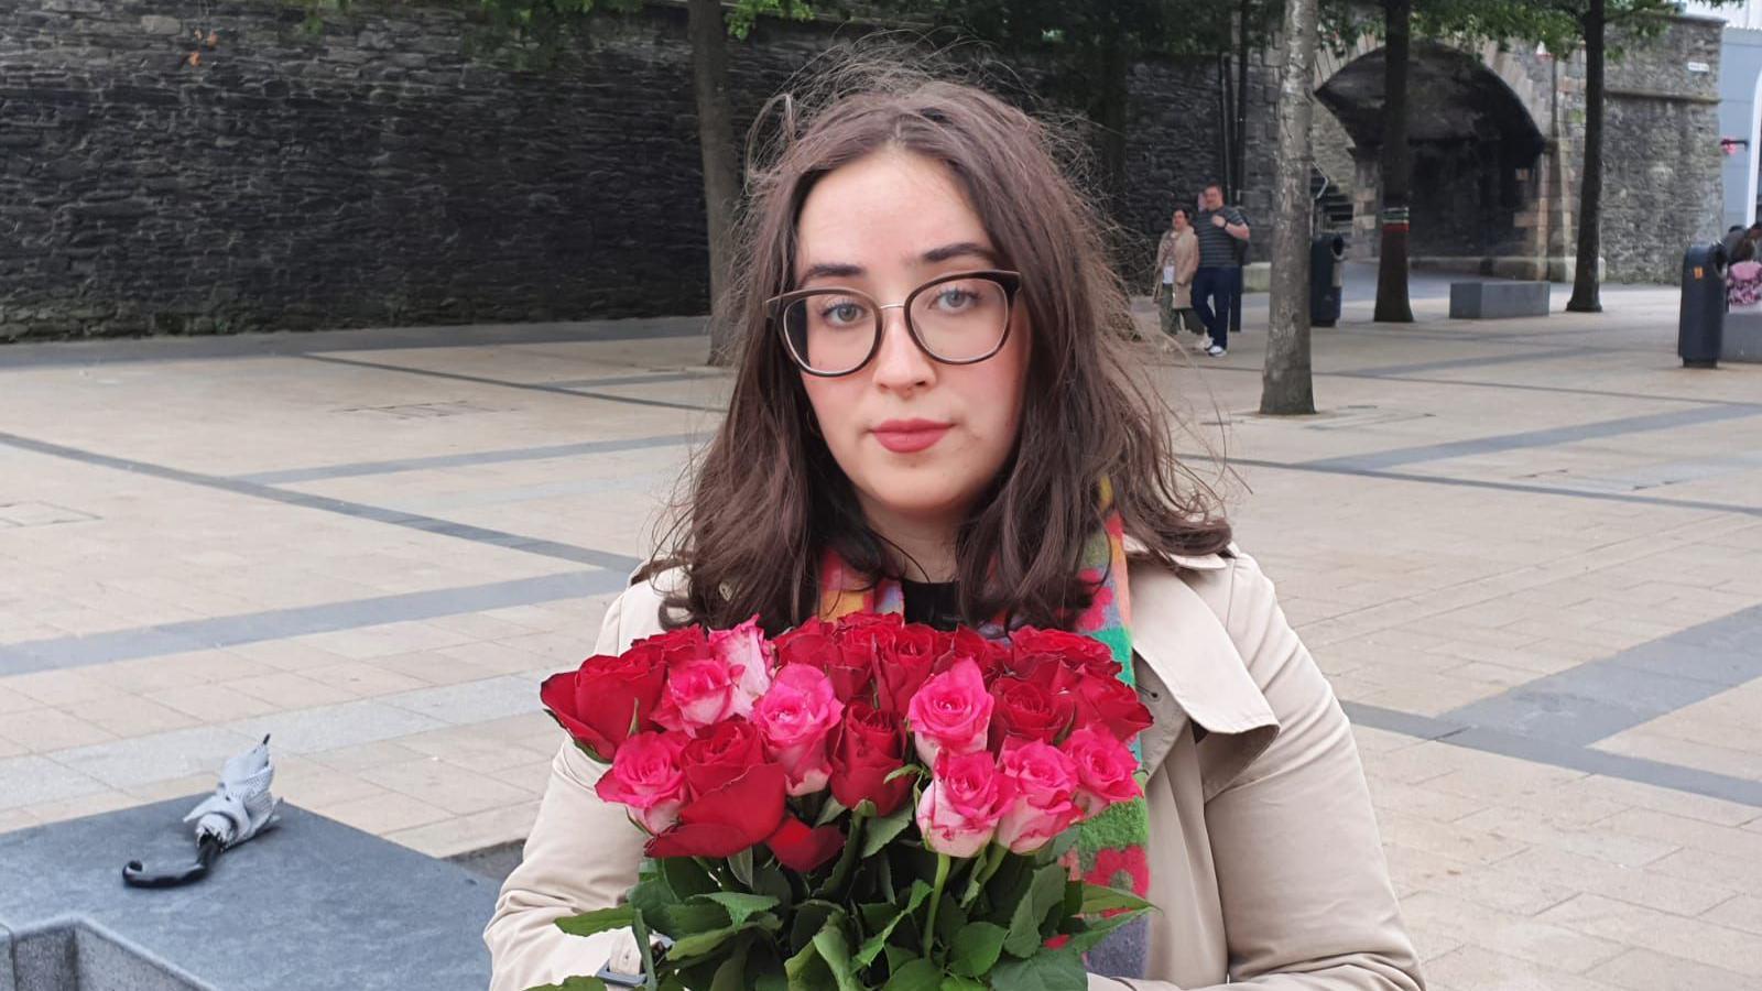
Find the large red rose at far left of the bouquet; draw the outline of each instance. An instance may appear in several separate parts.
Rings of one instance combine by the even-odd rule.
[[[539,702],[589,756],[611,764],[631,734],[654,728],[648,723],[664,686],[664,652],[631,647],[553,674],[539,688]]]

